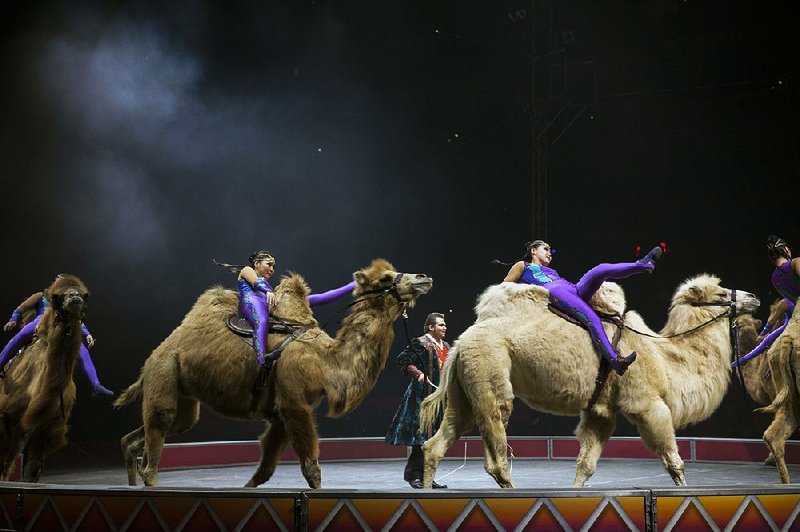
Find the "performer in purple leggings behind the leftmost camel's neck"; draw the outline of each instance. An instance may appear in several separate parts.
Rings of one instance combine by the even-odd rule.
[[[20,305],[14,309],[14,312],[11,313],[11,318],[3,327],[4,331],[11,331],[15,329],[22,321],[22,315],[28,310],[35,310],[36,317],[22,327],[22,329],[20,329],[20,331],[15,334],[11,340],[9,340],[9,342],[3,348],[3,351],[0,353],[0,379],[5,377],[4,368],[6,363],[10,359],[14,358],[17,353],[19,353],[20,349],[29,345],[33,340],[33,336],[36,332],[36,326],[39,325],[39,322],[42,319],[42,314],[44,314],[44,311],[48,306],[50,306],[50,303],[47,300],[47,295],[44,292],[36,292],[28,297],[28,299],[20,303]],[[87,349],[87,346],[92,347],[94,345],[94,337],[84,324],[81,324],[81,331],[83,332],[83,342],[81,342],[79,351],[81,367],[83,368],[83,372],[89,378],[89,382],[92,385],[92,392],[95,395],[114,395],[114,392],[100,384],[100,379],[97,377],[97,370],[92,362],[92,356],[89,354],[89,350]]]

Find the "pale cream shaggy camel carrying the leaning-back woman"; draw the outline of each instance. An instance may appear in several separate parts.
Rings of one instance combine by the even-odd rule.
[[[685,281],[672,298],[660,335],[636,312],[625,313],[628,327],[657,338],[627,328],[622,331],[619,351],[636,351],[639,357],[624,376],[609,375],[597,401],[587,409],[600,371],[589,334],[549,311],[547,291],[540,287],[502,283],[488,288],[478,301],[476,323],[455,342],[439,389],[423,404],[421,425],[426,426],[447,398],[442,424],[424,446],[425,486],[431,486],[450,446],[477,425],[486,471],[501,487],[513,487],[505,426],[515,394],[544,412],[580,415],[575,487],[583,486],[594,473],[618,413],[637,427],[675,484],[684,485],[675,429],[709,417],[725,395],[730,382],[730,306],[748,313],[758,308],[752,294],[737,291],[736,295],[732,303],[731,290],[711,275]],[[601,311],[622,314],[622,289],[604,283],[591,303]],[[612,328],[608,326],[609,336]],[[686,331],[691,332],[667,338]]]

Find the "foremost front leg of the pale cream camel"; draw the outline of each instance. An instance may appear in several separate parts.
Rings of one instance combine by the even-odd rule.
[[[685,486],[683,460],[678,453],[678,443],[675,441],[672,415],[662,401],[651,403],[651,405],[643,413],[629,415],[628,418],[636,425],[647,448],[661,458],[661,464],[672,477],[675,485]]]

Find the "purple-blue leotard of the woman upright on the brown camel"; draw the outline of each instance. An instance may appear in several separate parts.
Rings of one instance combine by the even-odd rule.
[[[355,281],[351,281],[344,286],[321,294],[311,294],[308,296],[308,303],[312,307],[326,305],[352,292],[355,286]],[[269,354],[265,352],[267,348],[267,331],[269,330],[269,308],[266,294],[267,292],[272,292],[272,286],[264,277],[259,275],[254,285],[244,279],[239,279],[236,287],[239,290],[239,304],[242,314],[253,326],[253,347],[258,353],[256,360],[263,366],[265,359],[269,358]]]

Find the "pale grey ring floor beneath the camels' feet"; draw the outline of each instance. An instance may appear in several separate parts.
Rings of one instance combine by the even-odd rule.
[[[404,460],[323,462],[322,487],[335,490],[416,491],[403,481],[404,466]],[[757,463],[687,462],[685,467],[686,481],[691,487],[779,487],[781,485],[774,466]],[[254,470],[255,464],[164,470],[159,473],[159,486],[240,488],[250,479]],[[800,466],[790,466],[789,474],[794,481],[800,482]],[[516,488],[569,488],[574,475],[574,460],[515,459],[512,462],[512,478]],[[484,471],[483,461],[474,459],[466,462],[444,460],[439,467],[437,481],[446,484],[449,489],[483,490],[498,487]],[[122,464],[119,468],[74,471],[62,469],[51,474],[45,469],[41,483],[70,486],[125,486],[127,475]],[[674,486],[672,479],[660,461],[601,459],[597,471],[585,487],[603,490],[672,486]],[[308,485],[300,472],[299,464],[283,463],[278,465],[269,482],[260,487],[298,490],[307,489]]]

